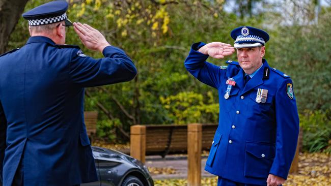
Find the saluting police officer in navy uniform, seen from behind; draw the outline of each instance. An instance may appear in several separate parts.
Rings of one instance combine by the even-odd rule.
[[[84,123],[84,87],[129,81],[136,68],[98,30],[73,23],[94,59],[64,45],[68,3],[54,1],[22,16],[26,44],[0,56],[0,183],[79,185],[97,181]]]

